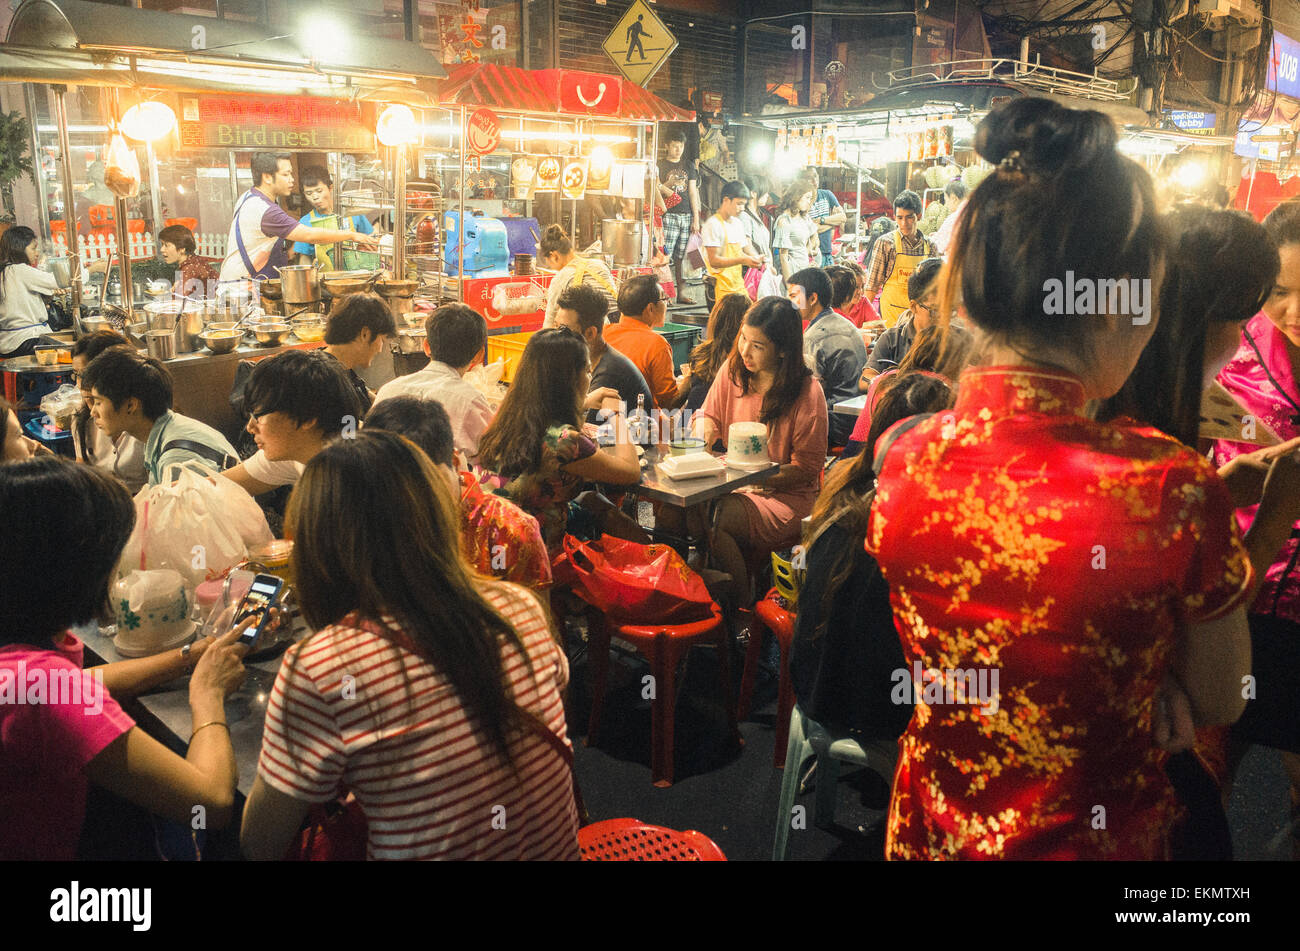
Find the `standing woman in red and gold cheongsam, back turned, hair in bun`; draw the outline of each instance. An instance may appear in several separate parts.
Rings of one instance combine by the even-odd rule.
[[[1041,99],[991,113],[976,148],[997,169],[944,296],[983,365],[888,448],[867,530],[920,670],[887,855],[1166,857],[1161,747],[1242,712],[1251,566],[1204,459],[1083,412],[1154,329],[1150,179],[1109,118]]]

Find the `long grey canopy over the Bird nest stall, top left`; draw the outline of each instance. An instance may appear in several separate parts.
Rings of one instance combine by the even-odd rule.
[[[374,66],[372,64],[384,64]],[[269,36],[260,27],[88,0],[23,0],[0,45],[8,82],[248,91],[433,103],[446,77],[416,43],[338,31],[321,43],[306,29]]]

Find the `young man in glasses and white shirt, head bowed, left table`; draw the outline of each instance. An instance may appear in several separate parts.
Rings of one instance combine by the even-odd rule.
[[[307,463],[361,416],[337,360],[322,351],[286,349],[260,360],[244,390],[248,431],[257,452],[222,473],[250,495],[291,486]]]

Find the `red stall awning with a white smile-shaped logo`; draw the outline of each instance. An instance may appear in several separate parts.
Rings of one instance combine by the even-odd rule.
[[[690,122],[696,118],[689,109],[679,109],[620,77],[569,69],[519,69],[490,62],[454,66],[439,86],[438,101],[502,112],[642,122]]]

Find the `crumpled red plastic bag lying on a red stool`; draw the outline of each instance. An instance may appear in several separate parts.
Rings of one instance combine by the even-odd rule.
[[[712,616],[714,599],[705,579],[667,544],[637,544],[612,535],[582,542],[566,535],[555,572],[556,582],[567,581],[589,604],[624,622],[703,621]]]

